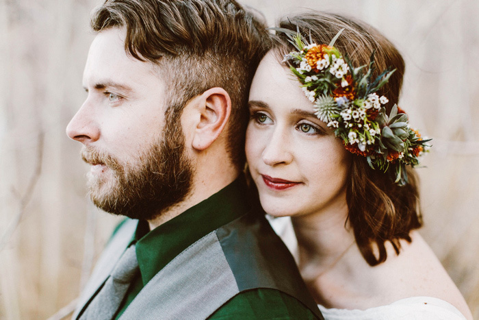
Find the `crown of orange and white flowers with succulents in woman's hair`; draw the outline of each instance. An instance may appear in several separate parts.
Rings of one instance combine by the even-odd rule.
[[[419,164],[419,156],[430,145],[409,127],[408,116],[396,104],[387,114],[383,107],[389,102],[387,97],[376,93],[396,69],[386,69],[372,80],[374,53],[366,72],[365,66],[353,68],[348,57],[333,47],[342,29],[329,45],[315,45],[311,39],[308,45],[299,32],[274,29],[285,32],[298,49],[288,53],[283,62],[314,103],[318,119],[334,128],[346,149],[364,156],[372,169],[394,170],[395,182],[407,184],[406,164]]]

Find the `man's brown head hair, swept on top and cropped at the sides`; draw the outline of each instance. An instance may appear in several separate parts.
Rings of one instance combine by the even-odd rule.
[[[227,149],[242,168],[250,83],[270,43],[255,14],[234,0],[106,0],[91,26],[95,32],[125,27],[125,51],[159,66],[167,114],[181,114],[187,101],[209,88],[224,88],[232,103]]]

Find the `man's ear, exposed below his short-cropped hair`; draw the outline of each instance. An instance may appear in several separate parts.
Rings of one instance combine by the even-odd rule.
[[[231,114],[231,99],[223,88],[211,88],[197,102],[200,119],[194,129],[192,147],[205,150],[224,130]]]

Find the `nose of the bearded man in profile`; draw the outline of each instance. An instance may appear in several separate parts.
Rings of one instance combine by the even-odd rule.
[[[66,126],[66,135],[73,140],[77,140],[84,145],[88,145],[100,138],[100,127],[94,116],[92,106],[88,100],[73,116],[70,123]]]

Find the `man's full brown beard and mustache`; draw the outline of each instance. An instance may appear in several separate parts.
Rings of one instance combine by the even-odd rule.
[[[131,219],[151,220],[185,199],[191,188],[192,164],[185,155],[179,116],[166,118],[161,140],[140,156],[139,164],[124,165],[108,153],[83,149],[83,160],[103,164],[113,173],[111,181],[90,177],[88,194],[95,206]]]

